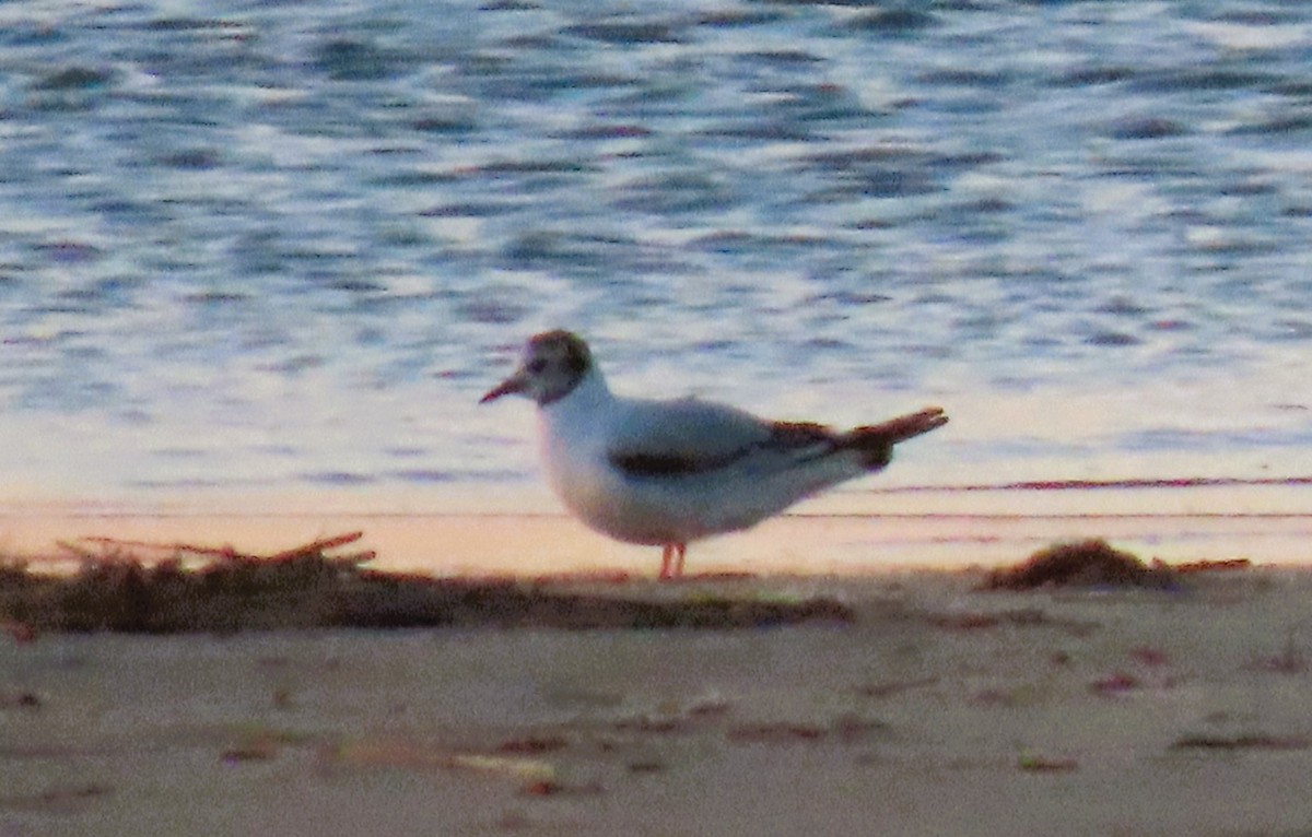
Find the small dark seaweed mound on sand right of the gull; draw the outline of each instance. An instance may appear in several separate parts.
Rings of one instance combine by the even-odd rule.
[[[994,569],[981,585],[987,590],[1033,590],[1044,586],[1172,588],[1178,573],[1165,564],[1144,564],[1106,541],[1059,543],[1015,567]]]

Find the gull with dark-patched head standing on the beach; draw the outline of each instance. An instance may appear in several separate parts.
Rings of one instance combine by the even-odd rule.
[[[504,395],[537,403],[542,460],[562,502],[602,534],[663,547],[663,580],[684,573],[690,542],[748,529],[880,471],[893,445],[947,424],[929,407],[838,432],[693,398],[626,398],[567,331],[530,337],[518,367],[479,403]]]

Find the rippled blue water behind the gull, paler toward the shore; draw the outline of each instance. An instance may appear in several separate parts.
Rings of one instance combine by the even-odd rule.
[[[851,496],[1312,472],[1305,4],[226,9],[0,8],[7,497],[531,496],[475,401],[558,325],[949,408]]]

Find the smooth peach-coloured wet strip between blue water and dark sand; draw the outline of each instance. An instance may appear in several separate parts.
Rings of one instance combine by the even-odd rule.
[[[150,513],[37,509],[0,513],[0,555],[76,563],[60,543],[87,539],[231,546],[270,554],[363,531],[371,567],[436,576],[655,575],[660,551],[617,543],[563,513]],[[865,576],[964,569],[1023,559],[1051,543],[1103,538],[1168,563],[1246,559],[1312,563],[1312,513],[1296,509],[1089,512],[934,509],[922,513],[806,510],[691,544],[690,572]]]

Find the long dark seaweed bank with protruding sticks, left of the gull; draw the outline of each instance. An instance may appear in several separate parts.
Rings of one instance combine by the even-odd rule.
[[[356,535],[358,537],[358,535]],[[354,541],[352,537],[349,541]],[[850,622],[828,598],[758,601],[594,593],[518,579],[437,579],[362,568],[371,554],[325,555],[331,539],[274,556],[201,550],[178,558],[84,558],[71,575],[0,567],[0,626],[26,632],[235,632],[289,628],[550,627],[726,630]],[[214,555],[218,554],[218,558]],[[194,556],[195,552],[192,552]]]

